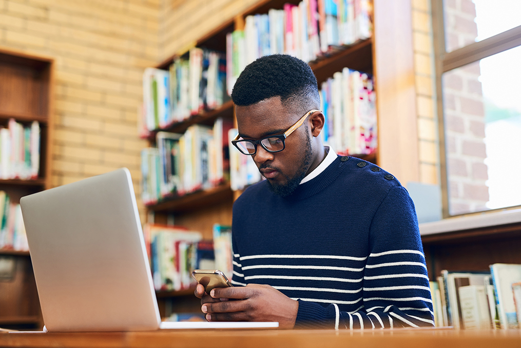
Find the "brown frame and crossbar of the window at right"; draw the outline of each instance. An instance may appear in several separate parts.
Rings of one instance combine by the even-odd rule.
[[[436,80],[436,108],[438,116],[438,140],[439,140],[439,157],[440,157],[440,184],[442,199],[442,216],[448,218],[457,215],[449,213],[449,183],[448,172],[446,169],[446,152],[445,152],[445,123],[443,113],[443,90],[442,75],[445,72],[461,68],[465,65],[475,63],[480,59],[490,57],[508,49],[521,46],[521,26],[504,31],[497,35],[491,36],[485,40],[474,42],[467,46],[455,49],[452,52],[446,52],[445,47],[445,27],[444,27],[444,10],[443,0],[431,0],[432,11],[432,38],[434,45],[434,66]],[[521,207],[521,205],[513,206]],[[511,207],[505,207],[511,208]],[[501,210],[490,209],[491,211]],[[486,210],[489,211],[489,210]],[[467,213],[481,214],[483,212]],[[462,214],[462,215],[467,215]]]

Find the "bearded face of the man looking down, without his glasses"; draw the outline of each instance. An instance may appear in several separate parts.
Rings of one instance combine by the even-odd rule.
[[[249,106],[235,108],[242,139],[258,140],[267,135],[282,134],[303,115],[292,114],[271,97]],[[270,153],[257,145],[253,160],[266,178],[271,190],[281,196],[291,194],[306,175],[312,160],[311,140],[307,120],[285,140],[286,148]]]

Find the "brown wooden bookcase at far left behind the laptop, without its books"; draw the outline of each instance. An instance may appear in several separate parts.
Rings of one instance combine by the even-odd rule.
[[[54,60],[0,48],[0,127],[10,119],[24,127],[38,121],[40,159],[38,176],[33,179],[0,179],[0,190],[10,201],[51,187],[51,139],[53,129]],[[0,258],[14,265],[0,279],[0,326],[13,329],[39,329],[43,326],[40,303],[30,254],[27,251],[0,250]]]

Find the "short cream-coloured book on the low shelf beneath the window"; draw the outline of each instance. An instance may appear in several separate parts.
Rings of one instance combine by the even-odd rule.
[[[466,330],[490,329],[491,319],[485,285],[467,285],[458,289],[461,317]]]

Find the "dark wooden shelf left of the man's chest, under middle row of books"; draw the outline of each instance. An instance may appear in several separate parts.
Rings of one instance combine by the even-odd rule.
[[[203,207],[212,206],[222,201],[230,201],[232,203],[233,192],[230,183],[221,184],[217,187],[207,190],[189,193],[180,197],[173,197],[170,200],[159,202],[157,204],[148,205],[148,210],[153,212],[188,212],[192,209],[201,209]]]

